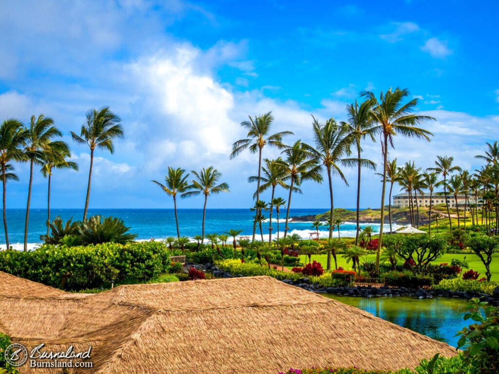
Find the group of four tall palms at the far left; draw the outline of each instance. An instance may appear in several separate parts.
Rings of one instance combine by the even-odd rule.
[[[90,170],[88,187],[85,200],[83,220],[86,219],[88,201],[90,197],[90,181],[94,151],[96,148],[107,149],[113,153],[113,140],[123,137],[121,120],[109,107],[99,110],[92,109],[86,114],[86,121],[81,126],[80,135],[70,132],[74,141],[87,144],[90,148]],[[5,243],[9,248],[7,216],[6,216],[6,188],[8,181],[17,181],[13,163],[29,164],[29,184],[26,204],[26,218],[24,224],[24,251],[27,250],[27,235],[29,222],[29,207],[31,202],[31,189],[34,177],[34,168],[39,167],[40,172],[48,179],[47,191],[47,234],[50,222],[50,184],[52,173],[55,169],[78,170],[78,165],[71,161],[71,152],[67,143],[60,140],[62,132],[54,126],[50,117],[40,114],[31,116],[29,124],[24,125],[20,120],[9,118],[0,125],[0,168],[3,186],[3,227],[5,230]]]

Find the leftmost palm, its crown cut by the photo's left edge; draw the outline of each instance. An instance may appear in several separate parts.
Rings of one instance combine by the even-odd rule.
[[[25,161],[22,146],[27,139],[27,132],[22,122],[13,118],[6,119],[0,126],[0,167],[3,186],[3,229],[5,230],[5,243],[9,246],[6,215],[7,180],[10,171],[10,162]]]

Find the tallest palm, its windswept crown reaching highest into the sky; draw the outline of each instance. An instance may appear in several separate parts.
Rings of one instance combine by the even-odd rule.
[[[430,116],[420,116],[413,114],[418,104],[417,99],[403,103],[409,95],[407,89],[396,88],[394,91],[390,88],[387,92],[380,93],[379,101],[371,91],[364,91],[361,96],[373,100],[373,109],[371,115],[377,126],[373,132],[380,133],[382,139],[381,153],[383,156],[383,187],[381,191],[381,225],[379,230],[378,250],[376,251],[376,271],[379,271],[379,256],[383,243],[383,221],[385,218],[385,192],[386,192],[386,169],[388,167],[388,146],[394,147],[393,137],[402,135],[404,137],[416,137],[430,141],[433,135],[427,130],[416,127],[427,120],[435,120]]]

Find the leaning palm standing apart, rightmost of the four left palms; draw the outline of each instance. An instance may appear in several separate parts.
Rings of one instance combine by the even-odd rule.
[[[85,209],[83,210],[83,220],[87,219],[95,149],[107,149],[113,154],[113,140],[115,138],[123,138],[123,128],[120,123],[121,119],[111,112],[109,107],[102,107],[99,110],[90,109],[87,111],[85,123],[81,126],[80,135],[72,131],[70,132],[71,137],[76,143],[86,144],[90,148],[90,169],[88,172],[87,196],[85,199]]]

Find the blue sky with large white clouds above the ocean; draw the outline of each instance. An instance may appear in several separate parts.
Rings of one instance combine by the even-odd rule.
[[[231,192],[208,207],[253,204],[257,158],[229,159],[246,137],[248,116],[272,111],[273,130],[311,143],[311,114],[345,119],[345,106],[367,89],[408,88],[432,141],[395,139],[389,157],[418,167],[437,155],[474,170],[475,155],[499,128],[499,3],[470,1],[25,1],[0,2],[0,120],[52,117],[80,171],[55,171],[51,206],[83,207],[89,150],[71,141],[90,108],[110,106],[125,137],[115,152],[96,151],[90,207],[169,208],[151,183],[168,166],[214,166]],[[364,157],[381,168],[379,141]],[[264,157],[279,151],[264,149]],[[7,207],[25,207],[29,170],[7,185]],[[354,207],[349,187],[334,180],[336,207]],[[362,207],[380,206],[381,183],[363,171]],[[326,184],[303,184],[291,207],[328,206]],[[398,192],[398,187],[394,190]],[[46,207],[47,180],[36,172],[31,206]],[[287,199],[287,193],[277,191]],[[268,199],[267,194],[262,196]],[[203,199],[179,201],[201,208]]]

